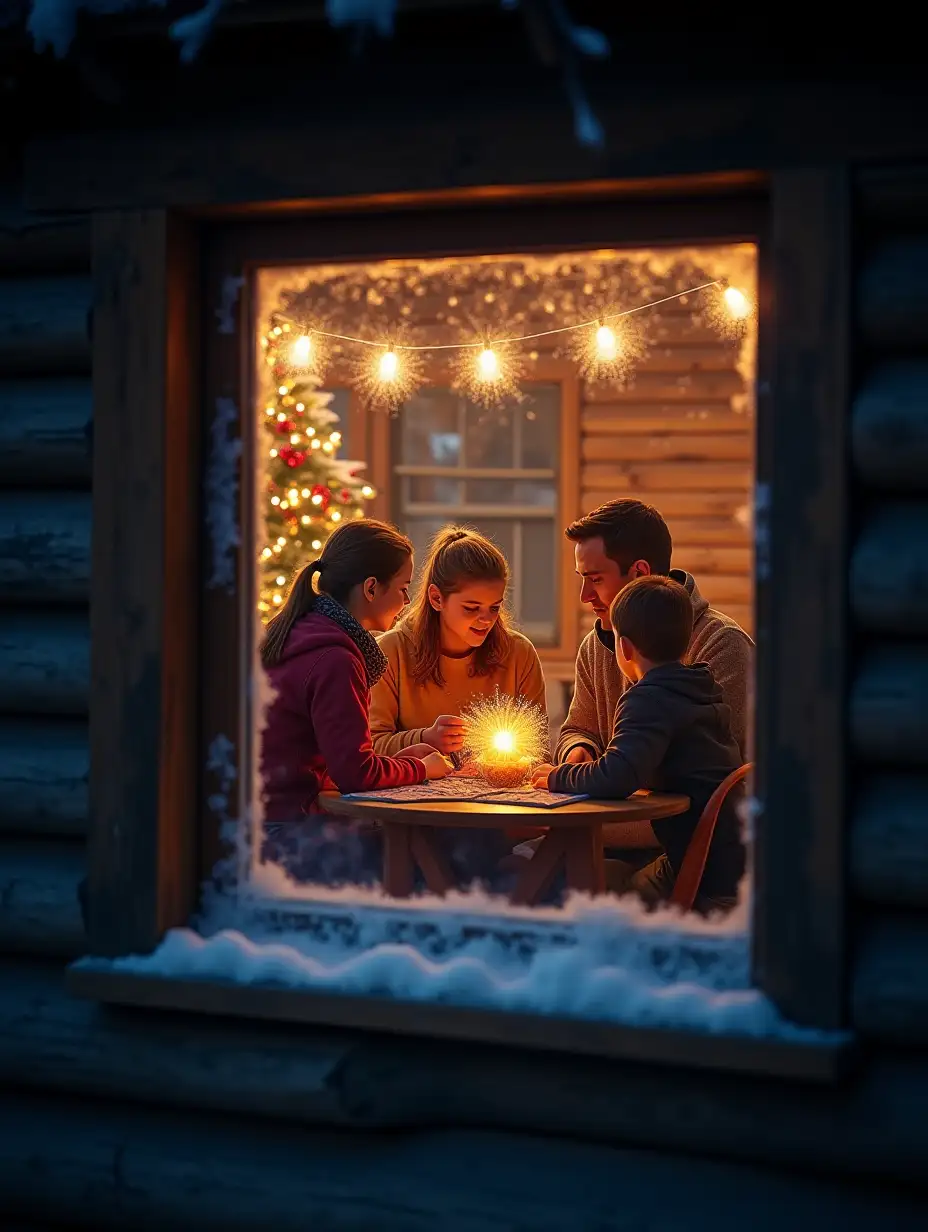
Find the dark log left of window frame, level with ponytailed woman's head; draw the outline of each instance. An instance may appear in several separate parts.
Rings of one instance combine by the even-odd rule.
[[[0,493],[0,599],[86,602],[90,494]]]

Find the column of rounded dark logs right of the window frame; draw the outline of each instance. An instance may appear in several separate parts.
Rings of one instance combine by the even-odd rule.
[[[928,184],[858,177],[850,887],[858,1029],[928,1048]]]

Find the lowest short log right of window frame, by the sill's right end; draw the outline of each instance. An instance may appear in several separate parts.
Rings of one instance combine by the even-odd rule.
[[[853,981],[854,1026],[884,1044],[928,1046],[928,919],[892,915],[865,931]]]

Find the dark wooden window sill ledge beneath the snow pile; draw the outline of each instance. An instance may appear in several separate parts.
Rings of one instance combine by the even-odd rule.
[[[68,970],[67,986],[75,997],[111,1005],[424,1035],[820,1084],[842,1078],[855,1053],[849,1036],[795,1042],[638,1027],[279,984],[137,975],[84,963]]]

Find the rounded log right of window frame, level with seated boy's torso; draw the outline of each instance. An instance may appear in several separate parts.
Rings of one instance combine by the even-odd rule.
[[[850,694],[850,736],[864,761],[928,765],[928,647],[870,650]]]

